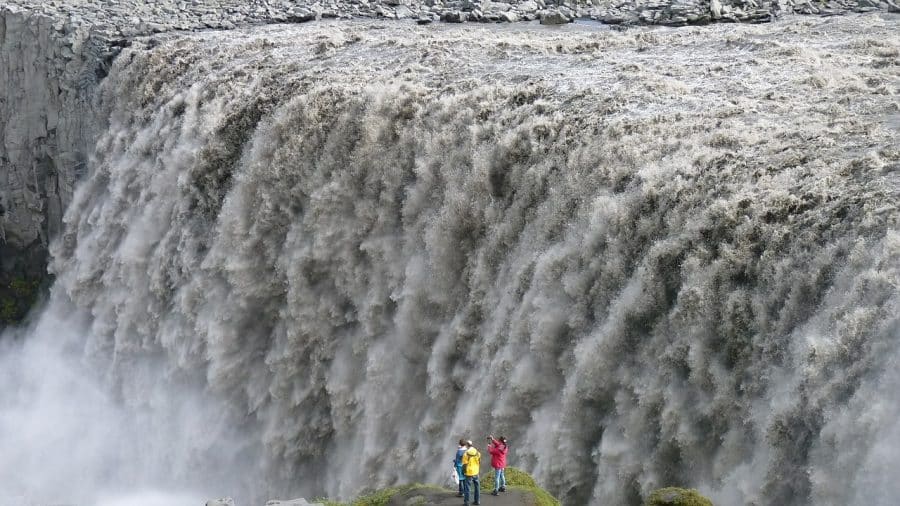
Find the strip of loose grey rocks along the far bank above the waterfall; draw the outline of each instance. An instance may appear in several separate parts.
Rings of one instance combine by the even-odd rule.
[[[111,38],[328,18],[414,19],[420,24],[591,19],[678,26],[765,22],[782,13],[898,10],[896,0],[4,0],[0,9],[49,16],[59,30],[66,21],[92,26]]]

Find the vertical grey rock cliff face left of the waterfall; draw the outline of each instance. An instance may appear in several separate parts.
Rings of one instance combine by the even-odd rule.
[[[2,11],[0,240],[46,246],[85,164],[90,89],[102,44],[75,27],[14,8]]]

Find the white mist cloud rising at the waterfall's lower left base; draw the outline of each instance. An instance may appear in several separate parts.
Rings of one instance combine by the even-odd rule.
[[[249,499],[259,479],[253,452],[202,384],[173,378],[150,357],[111,378],[84,347],[90,318],[53,300],[0,338],[0,504]]]

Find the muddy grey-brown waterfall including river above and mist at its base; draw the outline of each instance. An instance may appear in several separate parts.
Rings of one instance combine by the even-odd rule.
[[[566,505],[892,504],[898,70],[878,16],[135,44],[3,493],[348,497],[502,433]]]

